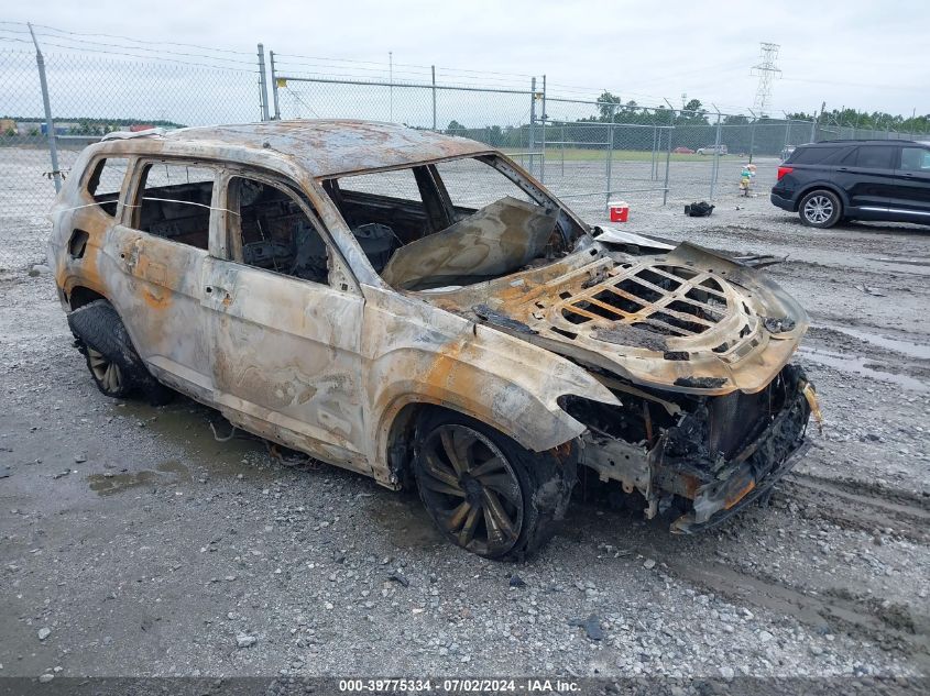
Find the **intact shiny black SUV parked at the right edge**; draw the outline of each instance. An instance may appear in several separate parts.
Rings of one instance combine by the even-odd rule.
[[[830,141],[795,150],[772,202],[812,228],[841,220],[930,224],[930,143]]]

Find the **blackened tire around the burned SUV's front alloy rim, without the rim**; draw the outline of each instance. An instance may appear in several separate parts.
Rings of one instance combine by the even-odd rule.
[[[435,498],[425,485],[426,453],[424,443],[439,428],[463,426],[491,441],[506,459],[508,469],[519,483],[522,523],[516,540],[503,550],[485,552],[462,545],[459,538],[444,523],[446,512],[437,509]],[[451,543],[467,551],[495,561],[523,561],[555,535],[558,522],[568,509],[571,490],[578,478],[578,444],[572,441],[547,452],[530,452],[516,441],[467,416],[450,411],[433,411],[419,423],[414,446],[412,468],[419,497],[434,523]]]

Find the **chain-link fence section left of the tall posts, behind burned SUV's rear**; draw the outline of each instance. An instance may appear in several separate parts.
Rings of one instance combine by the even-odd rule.
[[[36,27],[34,43],[28,25],[0,23],[0,268],[44,261],[56,184],[88,143],[116,130],[259,120],[259,73],[254,53],[77,42],[51,27]]]

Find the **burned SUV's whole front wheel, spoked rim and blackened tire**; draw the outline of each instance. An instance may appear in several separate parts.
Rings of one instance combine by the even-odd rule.
[[[534,453],[488,426],[440,412],[418,429],[414,474],[420,498],[452,543],[516,560],[555,533],[576,479],[571,444]]]

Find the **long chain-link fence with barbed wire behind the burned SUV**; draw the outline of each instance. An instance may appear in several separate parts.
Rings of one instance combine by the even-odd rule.
[[[398,75],[393,64],[385,74],[359,62],[346,62],[347,75],[319,58],[265,56],[261,44],[252,53],[33,29],[35,36],[26,24],[0,22],[6,268],[42,262],[56,185],[81,147],[113,130],[307,118],[405,123],[504,151],[592,222],[604,221],[613,199],[642,208],[736,195],[750,162],[754,188],[765,191],[803,143],[928,137],[824,118],[567,98],[547,90],[545,77],[434,66],[398,66]]]

